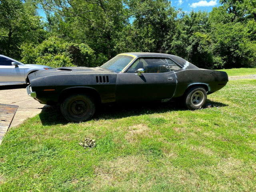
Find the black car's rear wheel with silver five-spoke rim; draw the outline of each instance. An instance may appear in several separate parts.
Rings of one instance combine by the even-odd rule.
[[[204,87],[196,86],[188,90],[184,98],[184,105],[190,110],[202,108],[207,99],[207,93]]]

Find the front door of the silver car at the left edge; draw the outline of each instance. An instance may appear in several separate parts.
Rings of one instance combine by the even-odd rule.
[[[15,84],[25,82],[24,65],[12,66],[12,62],[14,60],[0,56],[0,83]]]

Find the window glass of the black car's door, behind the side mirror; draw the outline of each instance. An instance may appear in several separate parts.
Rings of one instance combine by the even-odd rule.
[[[170,71],[164,58],[140,58],[132,64],[127,73],[136,73],[139,68],[143,68],[145,70],[144,73],[165,73]]]

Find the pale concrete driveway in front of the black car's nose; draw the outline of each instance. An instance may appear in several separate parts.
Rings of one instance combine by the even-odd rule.
[[[26,85],[0,86],[0,104],[18,106],[10,127],[17,126],[27,118],[39,114],[45,106],[28,96]]]

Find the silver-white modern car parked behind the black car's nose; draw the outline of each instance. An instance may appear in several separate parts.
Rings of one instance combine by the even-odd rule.
[[[23,64],[12,58],[0,55],[0,86],[29,83],[28,75],[39,71],[51,69],[45,65]]]

